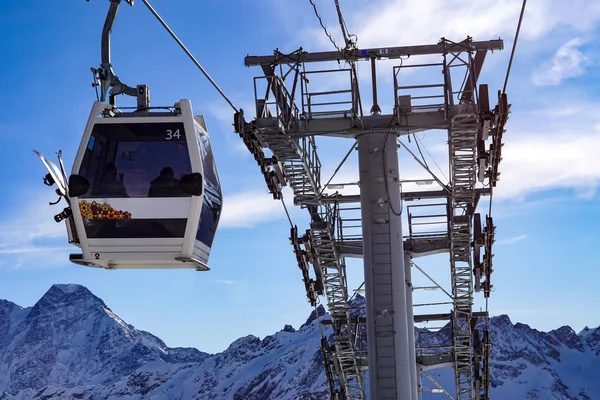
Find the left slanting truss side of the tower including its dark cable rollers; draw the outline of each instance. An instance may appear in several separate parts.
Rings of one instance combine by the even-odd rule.
[[[293,96],[296,83],[290,94],[283,78],[292,73],[294,82],[297,82],[300,71],[298,64],[289,67],[286,74],[278,76],[275,75],[272,66],[263,66],[265,76],[256,77],[254,80],[257,119],[246,123],[243,112],[236,114],[236,131],[245,143],[252,144],[248,148],[261,166],[273,197],[281,199],[282,186],[289,184],[294,193],[294,204],[301,205],[310,212],[310,229],[299,237],[297,228],[292,228],[290,241],[302,271],[309,302],[315,306],[318,295],[325,294],[327,298],[334,343],[329,346],[324,342],[322,350],[332,396],[364,399],[365,389],[360,365],[365,362],[355,351],[356,324],[350,317],[346,266],[336,249],[336,208],[321,195],[321,164],[316,153],[314,137],[294,136],[294,128],[299,119]],[[260,83],[265,83],[264,98],[258,97]],[[272,157],[267,158],[263,155],[263,147],[272,152]],[[321,205],[316,205],[319,203]],[[309,274],[309,263],[314,267],[314,279]],[[333,391],[336,387],[333,373],[338,377],[341,391]]]

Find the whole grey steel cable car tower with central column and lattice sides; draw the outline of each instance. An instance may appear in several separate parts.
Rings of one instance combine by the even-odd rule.
[[[332,340],[323,338],[322,351],[332,398],[364,399],[368,390],[371,399],[417,400],[424,390],[421,378],[433,380],[426,371],[451,365],[457,399],[489,399],[490,341],[487,324],[477,323],[485,322],[488,314],[473,312],[473,303],[475,293],[482,291],[485,298],[490,294],[494,225],[491,216],[481,218],[477,206],[498,180],[509,105],[506,95],[498,93],[498,103],[490,109],[487,85],[477,81],[487,52],[502,48],[500,39],[442,38],[431,45],[319,53],[300,49],[245,58],[246,66],[260,66],[263,74],[254,79],[256,118],[247,122],[240,110],[235,130],[254,155],[273,198],[282,199],[282,187],[289,185],[294,204],[309,212],[309,229],[300,234],[293,227],[290,239],[310,303],[315,306],[319,296],[327,301],[331,320],[323,323],[331,327]],[[409,56],[441,60],[403,65]],[[379,59],[400,63],[393,68],[394,109],[389,114],[377,102]],[[307,69],[340,60],[350,67]],[[370,115],[362,113],[359,61],[371,62]],[[433,68],[441,79],[400,85],[398,73],[407,68]],[[312,90],[308,77],[315,73],[348,74],[348,87]],[[435,93],[420,94],[427,90]],[[340,95],[346,96],[343,101]],[[324,98],[333,100],[319,101]],[[430,129],[447,131],[449,181],[441,182],[432,173],[440,190],[401,193],[398,147],[419,161],[402,137]],[[360,195],[326,193],[317,136],[356,141]],[[426,163],[419,163],[431,173]],[[404,202],[411,205],[404,207]],[[349,224],[357,220],[358,227]],[[450,291],[413,262],[439,253],[449,254]],[[346,257],[364,260],[366,319],[350,307]],[[413,268],[448,294],[451,312],[413,313]],[[415,338],[415,323],[424,321],[448,321],[450,342],[427,347],[422,338],[427,332],[420,329]]]

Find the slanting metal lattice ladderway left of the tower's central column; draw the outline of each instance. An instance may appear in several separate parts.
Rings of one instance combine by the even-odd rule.
[[[285,180],[294,192],[294,204],[306,206],[311,212],[310,247],[314,262],[323,273],[323,286],[331,316],[334,351],[329,353],[339,375],[346,399],[365,399],[363,376],[355,353],[353,330],[348,306],[346,266],[336,250],[336,207],[318,204],[321,194],[321,163],[314,137],[293,136],[298,123],[298,109],[278,76],[266,76],[275,101],[256,99],[257,116],[276,119],[267,126],[256,127],[257,139],[273,153],[282,166]],[[256,78],[255,78],[256,79]],[[275,118],[269,109],[275,107]],[[331,384],[331,382],[330,382]]]

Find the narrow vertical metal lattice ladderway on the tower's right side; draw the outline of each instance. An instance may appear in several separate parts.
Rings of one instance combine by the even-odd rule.
[[[459,104],[454,106],[455,93],[452,89],[451,68],[462,65],[467,68],[468,85],[474,84],[469,42],[452,43],[447,40],[443,45],[449,48],[444,53],[444,89],[446,109],[451,110],[448,117],[448,148],[450,157],[450,197],[448,199],[448,233],[450,239],[450,274],[454,310],[452,313],[452,333],[454,347],[454,374],[457,400],[473,398],[473,333],[471,318],[473,306],[473,279],[471,259],[472,214],[475,208],[475,183],[477,180],[477,132],[479,115],[475,93],[465,93],[465,85],[458,93]],[[467,60],[461,53],[467,50]],[[470,69],[470,70],[469,70]]]

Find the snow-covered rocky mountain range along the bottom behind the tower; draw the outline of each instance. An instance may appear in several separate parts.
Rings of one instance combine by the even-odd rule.
[[[167,347],[83,286],[53,285],[30,308],[0,300],[0,400],[328,399],[318,318],[207,354]],[[499,316],[490,330],[494,399],[600,399],[599,328],[543,333]],[[451,370],[429,375],[452,387]]]

